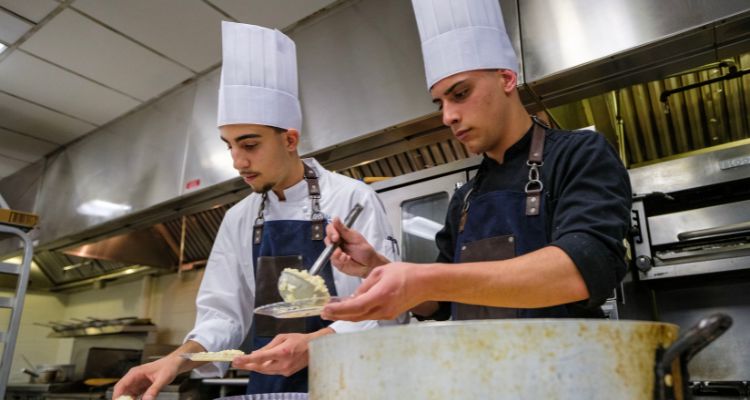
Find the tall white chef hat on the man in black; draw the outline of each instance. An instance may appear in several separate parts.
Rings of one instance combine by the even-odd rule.
[[[518,71],[499,0],[412,0],[427,87],[477,69]]]

